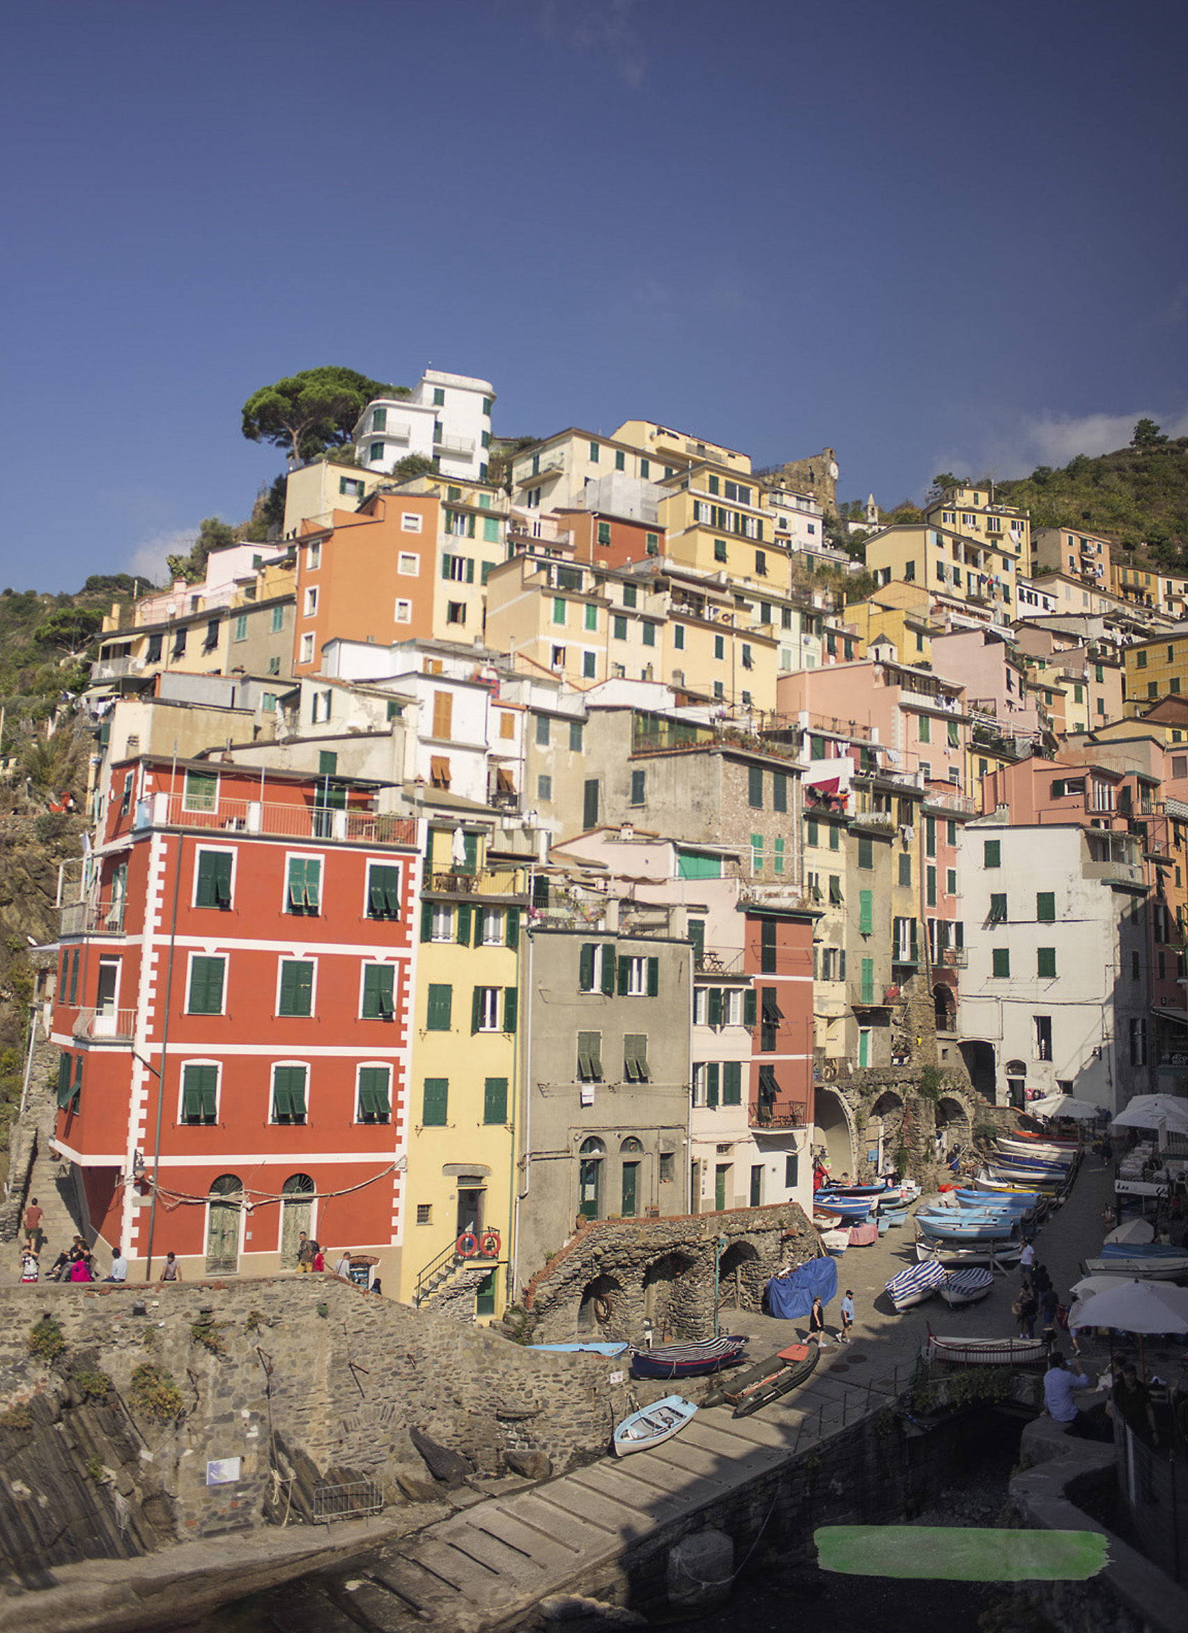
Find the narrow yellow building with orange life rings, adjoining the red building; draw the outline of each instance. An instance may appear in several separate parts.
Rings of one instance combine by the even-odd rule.
[[[508,1302],[528,906],[526,865],[489,843],[485,826],[430,820],[400,1270],[405,1303],[458,1300],[480,1319]]]

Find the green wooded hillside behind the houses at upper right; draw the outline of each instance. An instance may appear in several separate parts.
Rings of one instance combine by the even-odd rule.
[[[1188,438],[1168,439],[1139,421],[1134,441],[1113,454],[1077,454],[1064,469],[1039,465],[1016,482],[995,482],[995,498],[1031,511],[1033,527],[1096,532],[1155,562],[1185,565],[1188,549]],[[989,485],[982,477],[979,487]]]

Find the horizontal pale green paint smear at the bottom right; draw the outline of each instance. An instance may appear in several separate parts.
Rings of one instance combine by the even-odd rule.
[[[822,1571],[948,1582],[1083,1582],[1108,1560],[1098,1532],[822,1525],[814,1542]]]

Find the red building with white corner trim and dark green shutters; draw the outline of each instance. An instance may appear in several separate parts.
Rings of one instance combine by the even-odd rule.
[[[324,758],[113,768],[62,908],[57,1145],[131,1280],[275,1270],[301,1230],[395,1277],[415,823]]]

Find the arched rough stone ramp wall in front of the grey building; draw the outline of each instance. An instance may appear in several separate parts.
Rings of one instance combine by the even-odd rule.
[[[528,1342],[634,1339],[652,1323],[657,1339],[714,1331],[714,1256],[722,1251],[722,1303],[758,1310],[766,1280],[820,1254],[820,1239],[794,1202],[660,1220],[598,1220],[577,1231],[525,1290],[511,1313]],[[531,1334],[531,1336],[529,1336]]]

